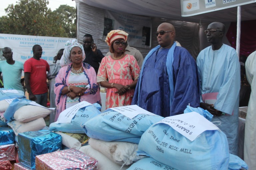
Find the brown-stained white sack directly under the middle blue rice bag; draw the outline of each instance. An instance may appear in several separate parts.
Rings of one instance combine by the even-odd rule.
[[[89,145],[119,165],[131,165],[145,157],[137,155],[138,144],[135,143],[118,141],[106,142],[90,138]]]

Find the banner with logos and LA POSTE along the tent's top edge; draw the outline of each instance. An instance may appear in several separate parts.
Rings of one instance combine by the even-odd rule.
[[[181,0],[181,16],[189,17],[254,2],[255,0]]]

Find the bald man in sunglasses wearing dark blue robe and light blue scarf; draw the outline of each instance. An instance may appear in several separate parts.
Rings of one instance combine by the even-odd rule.
[[[196,61],[176,46],[172,24],[160,24],[156,36],[159,45],[144,59],[132,104],[163,117],[183,114],[200,102]]]

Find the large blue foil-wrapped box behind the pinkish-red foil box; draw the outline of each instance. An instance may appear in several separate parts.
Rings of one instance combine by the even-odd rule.
[[[19,162],[35,169],[35,157],[62,148],[61,135],[49,130],[28,131],[18,135]]]

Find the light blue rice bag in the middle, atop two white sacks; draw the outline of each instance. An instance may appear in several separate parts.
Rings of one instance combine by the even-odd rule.
[[[109,109],[87,121],[83,128],[87,136],[95,139],[138,144],[144,131],[162,119],[161,116],[147,114],[139,114],[130,119]]]

